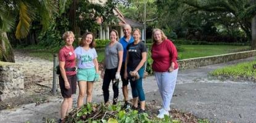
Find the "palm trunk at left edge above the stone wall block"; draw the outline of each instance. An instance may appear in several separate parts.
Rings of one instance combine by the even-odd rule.
[[[6,32],[0,33],[0,61],[2,62],[15,62],[14,52],[8,40]]]

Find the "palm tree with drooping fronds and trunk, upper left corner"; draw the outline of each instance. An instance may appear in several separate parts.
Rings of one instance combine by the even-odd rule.
[[[14,54],[10,42],[7,38],[7,31],[14,28],[14,21],[18,18],[15,27],[15,37],[22,39],[28,36],[31,22],[36,15],[41,18],[43,31],[47,30],[51,18],[57,12],[59,2],[65,3],[66,0],[2,0],[0,1],[0,61],[15,62]],[[10,21],[9,21],[10,20]]]

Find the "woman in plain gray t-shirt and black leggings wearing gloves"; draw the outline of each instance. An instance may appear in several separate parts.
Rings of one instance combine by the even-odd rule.
[[[101,77],[103,79],[102,90],[105,103],[109,103],[109,85],[112,81],[112,88],[114,91],[113,104],[117,104],[118,81],[120,80],[122,60],[123,46],[118,42],[118,32],[116,30],[112,30],[110,31],[110,42],[105,47],[104,69],[101,71]]]

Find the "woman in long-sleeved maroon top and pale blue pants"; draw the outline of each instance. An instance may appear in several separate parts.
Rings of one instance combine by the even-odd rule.
[[[170,111],[171,97],[178,74],[178,53],[173,42],[167,39],[162,30],[153,30],[152,38],[154,41],[151,50],[151,57],[154,60],[152,69],[163,101],[157,117],[163,118],[164,115],[169,115],[168,111]]]

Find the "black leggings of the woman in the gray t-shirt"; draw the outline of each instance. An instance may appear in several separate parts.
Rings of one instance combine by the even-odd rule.
[[[111,81],[115,82],[114,81],[115,73],[117,73],[117,68],[105,69],[103,85],[102,85],[105,103],[107,103],[107,101],[109,101],[109,85],[110,85]],[[118,100],[118,84],[112,84],[112,88],[114,91],[113,104],[115,105],[115,104],[117,104],[117,100]]]

